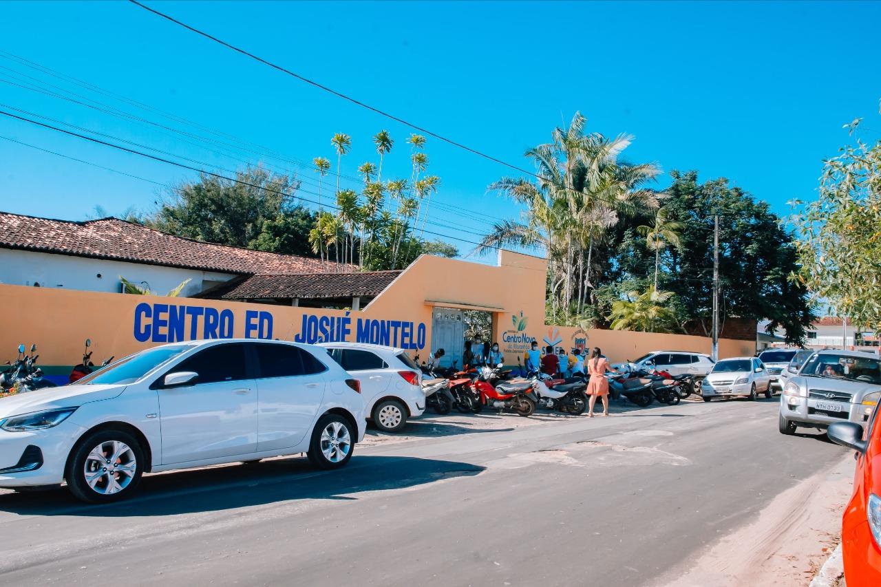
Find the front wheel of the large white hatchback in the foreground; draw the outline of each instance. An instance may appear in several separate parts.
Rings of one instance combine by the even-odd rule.
[[[144,466],[144,450],[137,438],[122,430],[100,430],[70,452],[64,478],[78,500],[115,502],[135,493]]]

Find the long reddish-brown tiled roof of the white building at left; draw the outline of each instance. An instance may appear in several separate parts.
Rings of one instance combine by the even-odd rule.
[[[328,271],[318,259],[196,241],[115,218],[76,222],[0,212],[0,248],[223,273]]]

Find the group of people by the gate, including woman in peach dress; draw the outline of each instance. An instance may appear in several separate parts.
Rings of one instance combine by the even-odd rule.
[[[433,366],[446,353],[442,348],[429,355],[428,364]],[[609,365],[609,361],[603,356],[598,346],[595,346],[589,359],[586,359],[581,349],[574,348],[572,353],[566,355],[562,348],[554,353],[553,346],[545,346],[544,353],[538,348],[538,343],[532,341],[529,351],[523,354],[527,371],[540,370],[552,377],[575,377],[589,375],[587,393],[590,396],[588,415],[593,418],[596,398],[603,400],[603,416],[609,415],[609,381],[605,378],[606,371],[618,373]],[[480,341],[466,340],[463,350],[463,365],[479,367],[483,365],[496,366],[504,364],[505,356],[499,350],[499,343],[482,344]]]

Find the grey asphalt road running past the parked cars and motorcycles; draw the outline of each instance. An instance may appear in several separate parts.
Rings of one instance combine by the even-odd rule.
[[[0,493],[0,584],[650,584],[846,456],[780,435],[776,412],[683,403],[485,432],[474,417],[469,434],[438,418],[440,435],[362,448],[341,472],[157,474],[103,508]]]

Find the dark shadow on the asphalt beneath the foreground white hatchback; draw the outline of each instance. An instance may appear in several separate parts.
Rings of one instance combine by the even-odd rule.
[[[305,457],[147,475],[137,496],[85,505],[67,491],[0,495],[0,511],[21,516],[174,516],[292,500],[357,500],[358,494],[473,477],[485,467],[412,457],[352,457],[339,471],[315,469]]]

